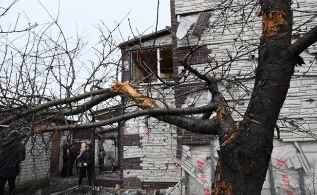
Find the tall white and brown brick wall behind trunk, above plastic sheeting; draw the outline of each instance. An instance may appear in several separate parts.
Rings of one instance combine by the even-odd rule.
[[[191,16],[193,22],[198,22],[199,12],[206,11],[208,10],[208,7],[213,7],[219,2],[220,1],[171,0],[172,29],[176,31],[176,27],[179,24],[178,21],[185,16]],[[297,2],[298,4],[294,3],[292,6],[301,12],[296,11],[294,13],[294,28],[297,28],[303,23],[303,21],[311,18],[311,14],[306,13],[305,11],[313,11],[317,8],[316,3],[312,0],[298,0]],[[206,6],[206,3],[209,4],[209,6]],[[247,5],[246,9],[250,11],[254,6],[254,3]],[[198,43],[202,43],[206,49],[204,49],[203,52],[196,53],[196,56],[190,60],[189,63],[191,63],[192,67],[197,69],[199,72],[206,73],[210,70],[210,67],[208,67],[208,63],[199,59],[199,56],[201,56],[200,53],[204,53],[202,56],[213,57],[218,61],[228,59],[228,52],[234,54],[239,50],[238,48],[244,47],[243,42],[235,41],[238,34],[241,39],[247,40],[247,43],[249,43],[247,48],[248,50],[256,47],[256,44],[259,43],[259,35],[262,33],[261,17],[256,17],[254,20],[250,21],[248,25],[250,27],[245,27],[241,34],[241,24],[235,22],[231,18],[228,18],[226,28],[224,28],[223,23],[217,23],[217,28],[210,30],[210,25],[215,25],[214,22],[220,14],[221,9],[212,11],[212,16],[209,19],[209,26],[202,31],[200,36],[201,39],[199,39],[198,36],[193,35],[193,28],[188,32],[188,39],[174,39],[173,47],[176,47],[177,49],[173,49],[173,57],[179,59],[181,56],[184,56],[185,52],[183,52],[183,50],[188,44],[195,46]],[[313,22],[305,23],[300,27],[300,29],[310,29],[316,24],[317,19],[314,19]],[[298,39],[300,36],[300,32],[296,32],[296,34],[293,35],[293,41]],[[255,45],[252,46],[251,44]],[[279,136],[283,141],[309,141],[317,139],[317,68],[314,64],[312,65],[312,63],[316,63],[316,60],[314,62],[316,53],[317,44],[315,43],[300,55],[306,64],[302,67],[298,66],[295,68],[295,74],[290,83],[290,89],[288,90],[288,94],[280,111],[280,118],[278,120],[278,126],[280,128]],[[239,58],[238,61],[233,61],[230,67],[230,72],[221,72],[222,70],[226,70],[228,68],[228,64],[226,64],[222,70],[216,70],[216,77],[220,78],[222,74],[236,76],[236,78],[241,79],[241,81],[244,82],[246,88],[252,89],[254,80],[244,80],[242,75],[247,75],[255,71],[257,60],[257,52],[250,53],[250,55]],[[211,65],[215,66],[215,63],[212,62]],[[178,66],[177,61],[174,62],[174,66],[178,67],[178,73],[183,69],[182,66]],[[308,70],[309,72],[306,73]],[[306,74],[304,75],[304,73]],[[241,75],[240,78],[237,75]],[[218,86],[219,90],[231,106],[242,113],[246,110],[250,97],[245,93],[244,89],[239,87],[237,88],[226,81],[219,82]],[[193,79],[191,82],[186,82],[186,84],[178,86],[176,88],[176,95],[188,92],[188,88],[191,90],[197,90],[201,87],[203,86],[200,86],[197,81]],[[202,94],[199,100],[195,103],[196,106],[202,105],[206,102],[207,92],[205,93],[206,94]],[[176,105],[181,107],[183,104],[188,104],[185,102],[187,99],[189,99],[189,97],[178,98],[176,100]],[[239,102],[237,100],[239,100]],[[232,115],[236,121],[241,119],[237,112],[233,112]]]

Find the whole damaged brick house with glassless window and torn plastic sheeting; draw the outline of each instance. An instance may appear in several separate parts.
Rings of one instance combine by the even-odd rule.
[[[261,18],[250,20],[248,27],[240,33],[240,22],[231,23],[226,28],[223,23],[216,22],[217,17],[223,13],[221,9],[211,9],[212,1],[170,2],[171,27],[119,45],[123,56],[122,80],[138,84],[139,91],[144,95],[149,94],[160,107],[166,106],[160,99],[169,107],[199,106],[211,98],[207,90],[180,96],[203,87],[203,84],[195,79],[189,79],[175,87],[162,88],[163,83],[173,83],[173,78],[182,72],[178,60],[190,51],[190,47],[201,43],[203,46],[188,62],[201,73],[209,71],[211,66],[215,65],[215,60],[227,59],[228,53],[234,53],[237,48],[244,47],[243,41],[237,41],[238,35],[247,41],[250,47],[248,49],[255,47],[262,32]],[[256,2],[247,8],[248,11],[254,3]],[[294,6],[299,10],[294,12],[297,28],[311,17],[309,11],[316,9],[316,3],[299,0]],[[215,23],[217,28],[211,31],[210,27]],[[315,19],[302,24],[300,28],[310,29],[316,24]],[[182,25],[180,29],[179,25]],[[179,33],[179,30],[182,32]],[[184,36],[179,38],[179,34]],[[300,32],[293,34],[294,40],[300,36]],[[299,193],[304,189],[312,191],[315,185],[309,180],[314,175],[314,162],[317,160],[312,156],[317,153],[317,147],[314,146],[317,140],[317,68],[311,67],[312,63],[316,63],[316,54],[316,44],[301,54],[306,65],[296,68],[280,112],[278,131],[275,132],[275,149],[263,185],[263,195],[274,191],[278,194]],[[257,52],[251,52],[230,63],[230,72],[223,72],[228,68],[226,65],[224,69],[216,69],[215,75],[237,76],[236,78],[244,81],[245,87],[249,88],[254,79],[246,79],[242,75],[252,74],[257,57]],[[233,86],[224,80],[218,83],[218,87],[228,103],[235,108],[232,115],[238,123],[238,112],[246,110],[249,95],[242,87]],[[123,104],[125,103],[126,99],[123,99]],[[176,185],[183,178],[183,185],[180,187],[183,195],[210,194],[218,157],[216,137],[191,133],[154,118],[138,117],[125,122],[120,128],[119,143],[119,167],[124,188],[167,188]]]

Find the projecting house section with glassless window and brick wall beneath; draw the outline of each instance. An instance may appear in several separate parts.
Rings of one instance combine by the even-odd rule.
[[[119,45],[123,54],[122,80],[132,84],[138,83],[138,90],[143,94],[151,94],[160,107],[166,105],[159,99],[163,99],[168,107],[180,107],[186,101],[175,98],[180,94],[179,86],[158,90],[163,86],[163,82],[173,82],[172,77],[178,72],[178,59],[189,51],[187,47],[180,48],[179,58],[175,59],[174,39],[171,28],[166,27],[156,34],[151,33]],[[204,49],[205,52],[209,51],[207,48]],[[204,53],[198,58],[204,63],[209,60]],[[153,90],[149,85],[157,89]],[[197,83],[184,85],[187,92],[197,86]],[[208,99],[209,95],[205,96]],[[210,135],[192,134],[157,119],[144,117],[126,121],[120,128],[119,137],[121,179],[125,189],[164,189],[175,186],[185,175],[180,169],[181,162],[175,158],[184,155],[182,146],[192,146],[191,156],[195,156],[195,147],[199,154],[205,153],[205,158],[210,159],[210,144],[215,140],[215,137]],[[186,149],[189,150],[189,147]],[[201,159],[201,162],[204,160]],[[209,162],[210,160],[202,165],[202,168],[211,173],[211,169],[208,169],[211,167]],[[192,165],[194,163],[192,162]]]

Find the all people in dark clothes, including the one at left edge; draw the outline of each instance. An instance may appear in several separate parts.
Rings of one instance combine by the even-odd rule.
[[[0,146],[0,195],[4,194],[4,186],[8,181],[9,194],[14,195],[16,190],[16,177],[20,173],[20,164],[25,159],[25,146],[16,140],[19,136],[18,130],[13,130],[5,140],[6,145]],[[91,144],[85,142],[71,144],[71,140],[67,139],[62,146],[63,167],[61,176],[73,176],[73,167],[76,165],[77,173],[79,173],[79,185],[81,185],[83,177],[88,176],[88,183],[92,185],[93,167],[94,167],[94,151]],[[99,148],[99,172],[103,171],[104,158],[106,152],[103,147]]]

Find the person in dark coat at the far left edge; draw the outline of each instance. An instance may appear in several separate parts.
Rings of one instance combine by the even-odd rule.
[[[14,195],[16,178],[20,173],[20,163],[25,160],[25,146],[14,140],[19,135],[18,130],[10,133],[12,144],[2,148],[0,152],[0,195],[4,193],[4,185],[8,181],[9,194]]]

